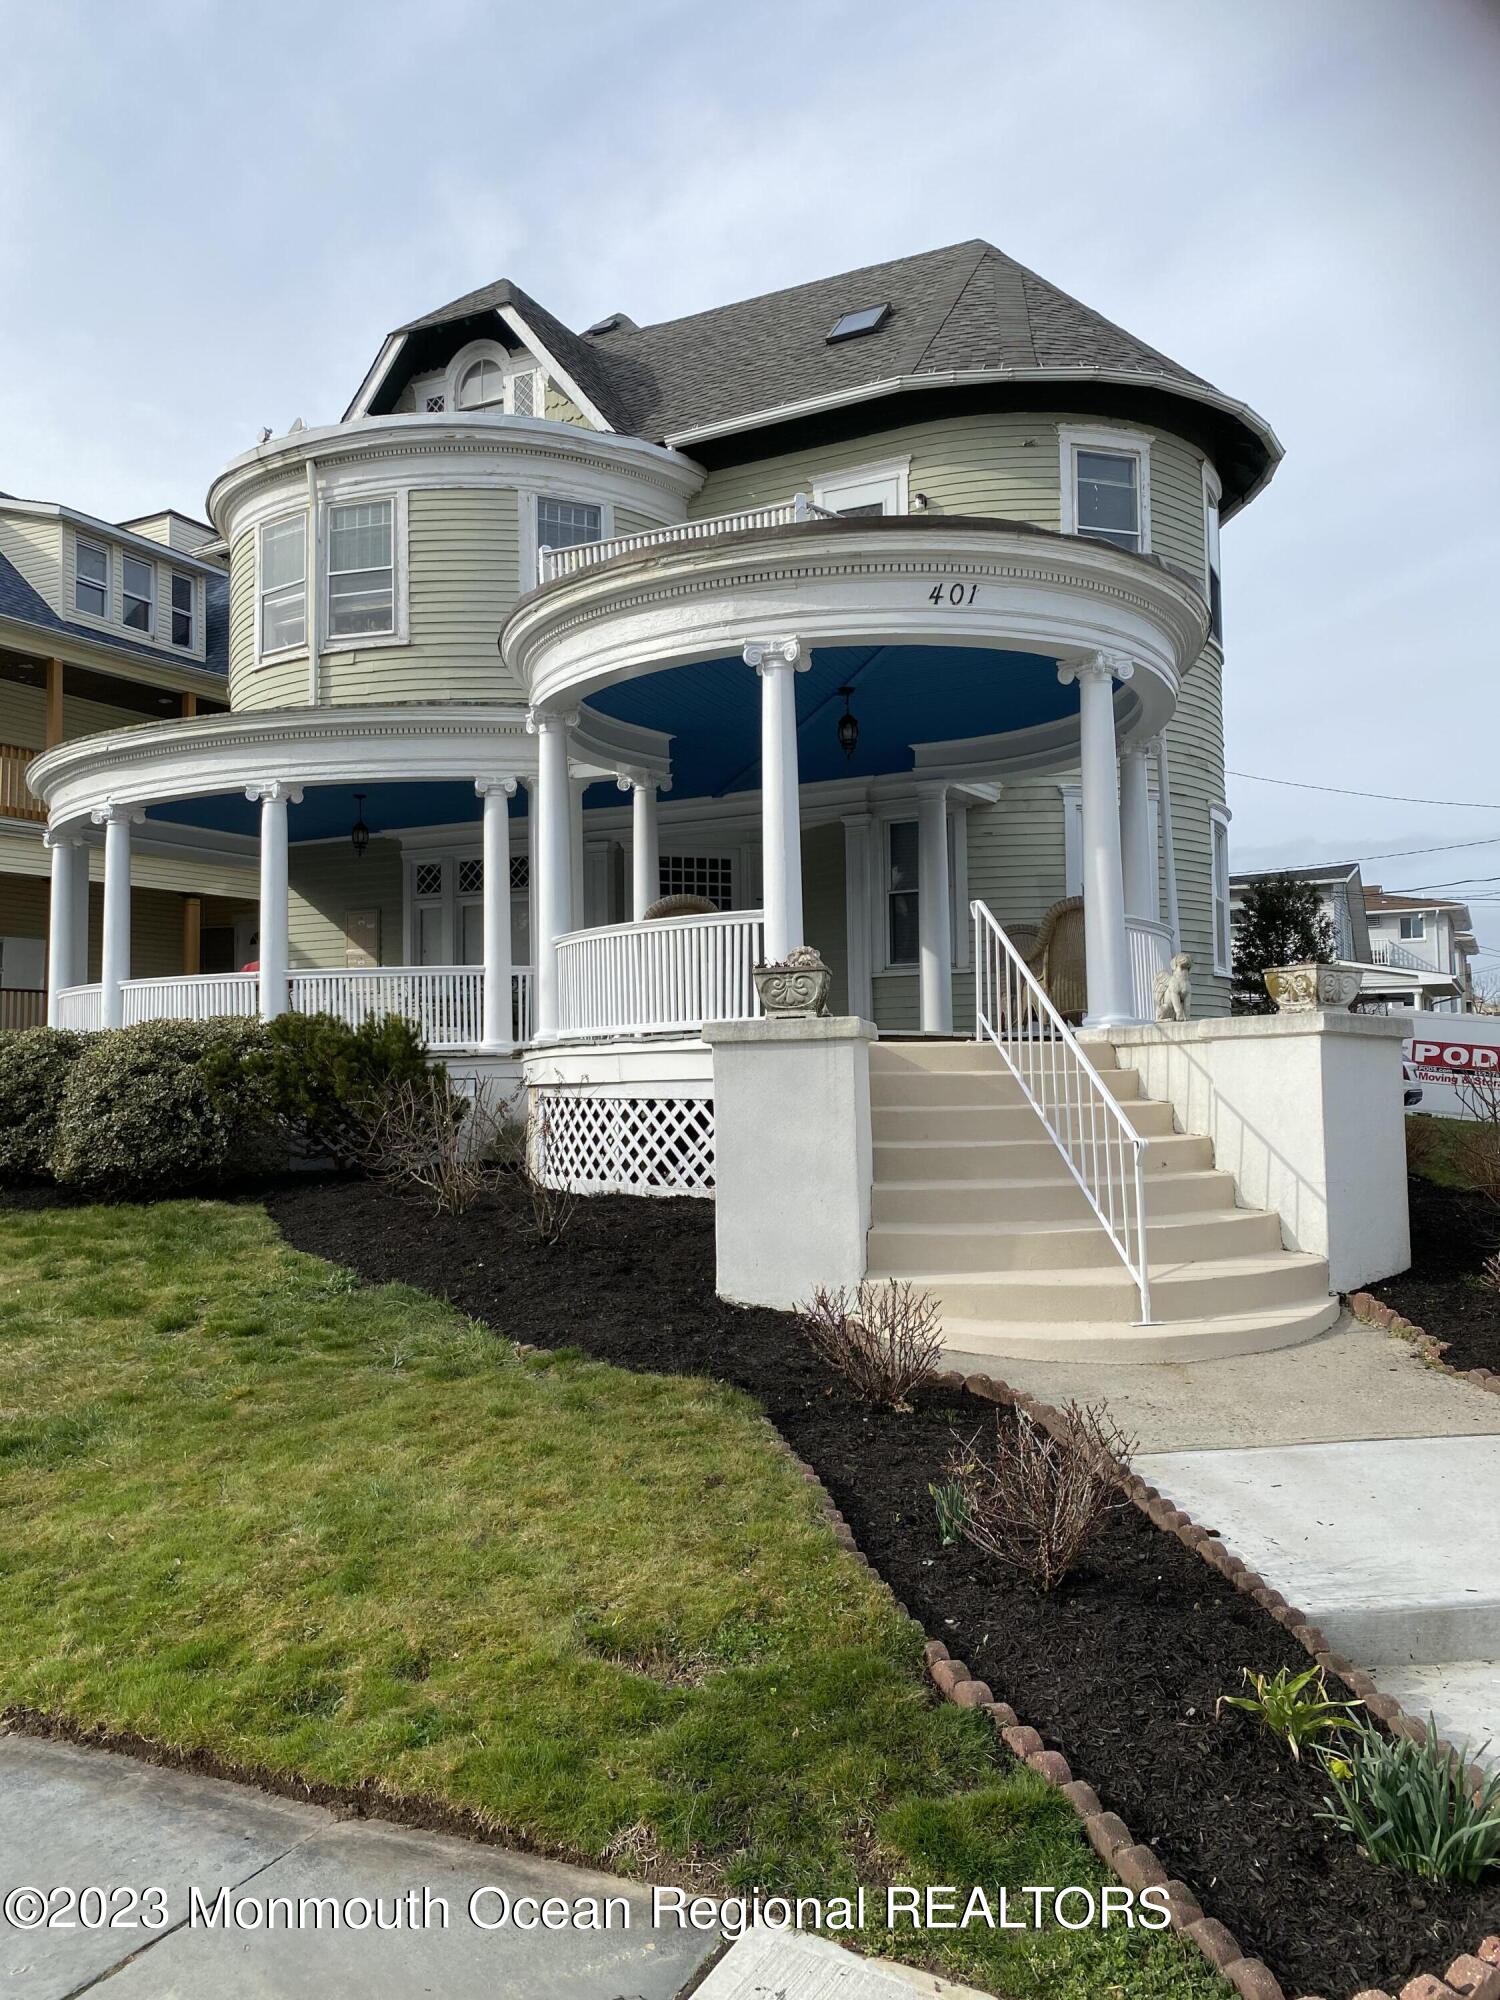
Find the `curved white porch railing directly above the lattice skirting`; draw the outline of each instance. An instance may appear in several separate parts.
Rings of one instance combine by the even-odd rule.
[[[760,1014],[760,910],[608,924],[558,938],[558,1034],[696,1034]]]

